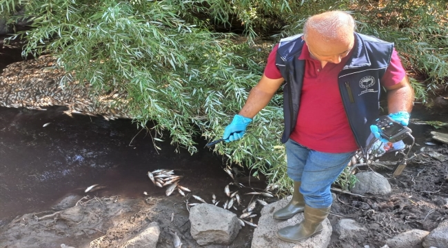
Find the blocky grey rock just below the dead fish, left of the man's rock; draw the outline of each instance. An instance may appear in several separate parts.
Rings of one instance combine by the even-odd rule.
[[[190,209],[190,232],[199,245],[230,244],[241,229],[236,214],[211,204]]]

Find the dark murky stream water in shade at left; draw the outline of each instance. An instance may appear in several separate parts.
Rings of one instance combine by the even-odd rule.
[[[185,149],[175,153],[169,141],[159,143],[157,152],[146,131],[139,133],[130,120],[70,118],[63,110],[0,107],[0,225],[20,214],[49,209],[67,194],[83,196],[97,183],[105,189],[90,196],[164,196],[165,188],[154,187],[146,175],[158,168],[183,175],[181,184],[197,195],[224,195],[230,183],[222,158],[205,143],[193,156]],[[45,123],[50,124],[43,127]]]

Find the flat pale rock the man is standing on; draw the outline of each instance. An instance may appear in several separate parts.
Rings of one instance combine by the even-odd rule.
[[[272,218],[272,213],[285,207],[289,200],[291,200],[291,196],[263,207],[261,217],[258,220],[258,227],[255,229],[254,237],[252,238],[252,248],[327,248],[333,231],[328,219],[323,221],[323,230],[320,234],[316,234],[301,242],[285,242],[277,238],[276,232],[278,229],[301,223],[303,220],[303,214],[296,214],[289,220],[274,220]]]

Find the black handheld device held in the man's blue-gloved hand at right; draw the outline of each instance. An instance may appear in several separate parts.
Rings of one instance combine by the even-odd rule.
[[[412,132],[409,127],[401,125],[389,116],[380,116],[375,120],[375,125],[380,129],[380,135],[391,143],[403,140]]]

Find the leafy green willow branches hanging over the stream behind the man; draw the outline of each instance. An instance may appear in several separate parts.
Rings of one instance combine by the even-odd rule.
[[[24,15],[14,14],[19,7]],[[411,79],[419,99],[446,84],[447,3],[441,1],[0,0],[9,23],[32,21],[31,30],[17,34],[27,40],[23,54],[54,54],[71,72],[64,81],[126,90],[140,126],[153,121],[156,141],[169,133],[190,153],[198,149],[195,136],[221,138],[260,79],[274,42],[259,45],[256,37],[299,33],[307,17],[325,10],[352,12],[358,31],[394,41],[409,71],[427,79],[426,85]],[[230,32],[214,31],[223,28]],[[279,92],[245,138],[214,150],[288,189],[282,105]],[[343,188],[350,182],[338,180]]]

